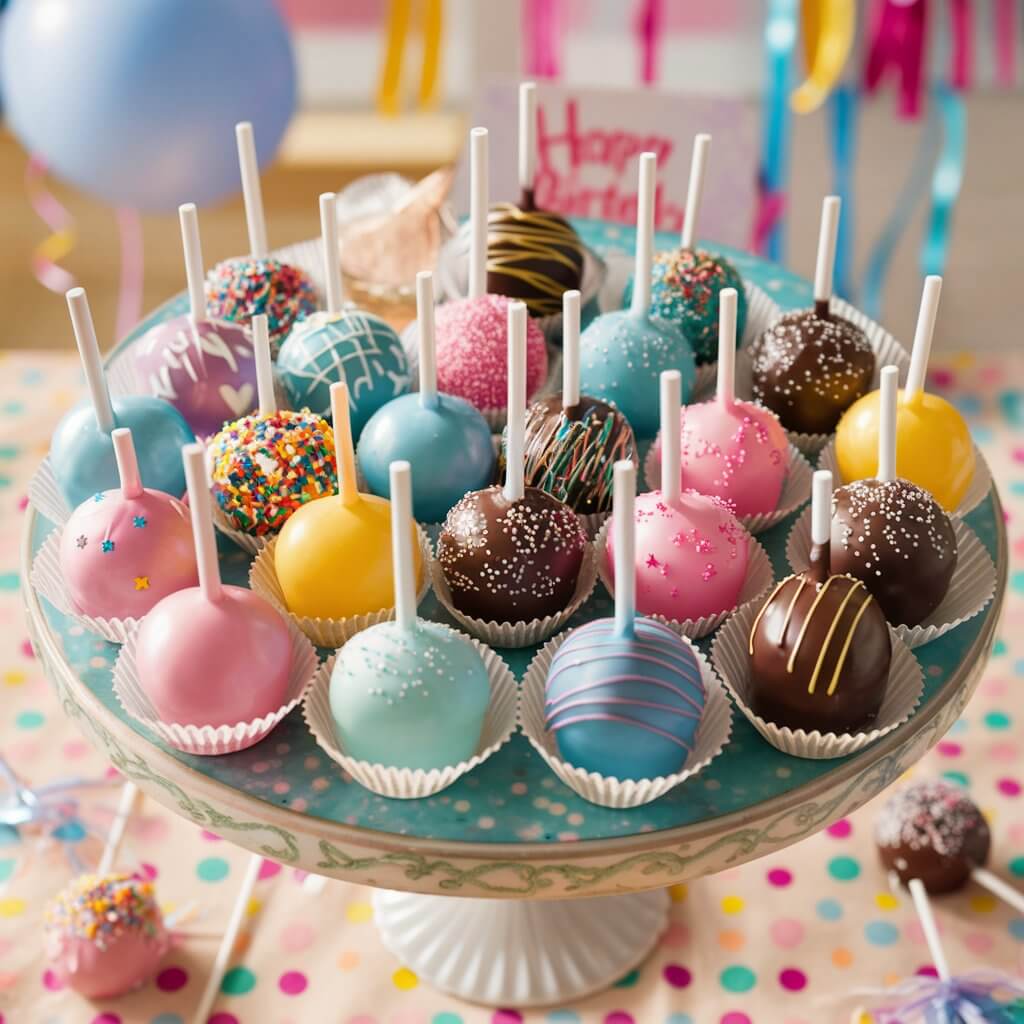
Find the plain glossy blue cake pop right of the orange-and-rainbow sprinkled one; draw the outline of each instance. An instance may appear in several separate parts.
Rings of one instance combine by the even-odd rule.
[[[381,498],[390,497],[392,462],[416,466],[413,516],[420,522],[440,522],[463,495],[485,487],[495,468],[490,428],[482,414],[463,398],[437,391],[433,291],[430,271],[417,274],[420,393],[401,395],[374,413],[357,452],[367,485]]]

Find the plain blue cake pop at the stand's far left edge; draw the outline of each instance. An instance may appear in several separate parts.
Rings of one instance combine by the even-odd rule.
[[[79,402],[63,416],[50,442],[50,464],[65,501],[77,508],[94,494],[120,486],[111,437],[116,427],[131,430],[146,487],[174,497],[184,494],[181,446],[196,440],[191,428],[162,398],[111,398],[85,290],[73,288],[67,298],[90,400]]]

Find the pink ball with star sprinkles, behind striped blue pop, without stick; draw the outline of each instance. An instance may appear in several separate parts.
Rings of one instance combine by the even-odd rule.
[[[614,529],[604,557],[614,577]],[[682,622],[734,608],[746,577],[750,536],[717,498],[692,492],[677,507],[659,490],[636,501],[637,611]]]

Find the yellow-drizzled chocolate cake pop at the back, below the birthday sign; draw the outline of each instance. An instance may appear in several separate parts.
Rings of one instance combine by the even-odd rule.
[[[498,203],[487,213],[487,291],[522,299],[532,316],[561,311],[561,294],[583,280],[584,248],[564,217],[534,201],[537,163],[537,86],[519,86],[519,205]]]

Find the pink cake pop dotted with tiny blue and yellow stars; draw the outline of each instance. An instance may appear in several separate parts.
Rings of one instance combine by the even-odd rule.
[[[142,486],[131,431],[111,433],[120,490],[97,492],[71,514],[60,571],[75,607],[96,618],[141,618],[199,574],[188,509]]]

